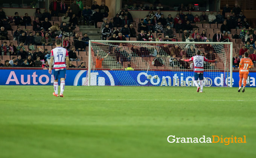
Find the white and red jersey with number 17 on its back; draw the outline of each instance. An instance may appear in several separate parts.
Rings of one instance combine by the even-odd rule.
[[[54,59],[54,69],[62,69],[66,68],[66,56],[69,56],[66,48],[56,47],[51,50],[51,57]]]

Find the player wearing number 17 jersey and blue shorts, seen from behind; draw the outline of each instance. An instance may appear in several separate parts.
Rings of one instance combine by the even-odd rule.
[[[52,74],[52,64],[53,65],[53,76],[54,76],[54,92],[53,95],[58,97],[64,97],[64,87],[65,87],[65,79],[66,79],[66,68],[69,68],[69,53],[67,49],[61,47],[61,40],[56,40],[56,48],[51,51],[51,59],[49,65],[49,74]],[[66,59],[66,63],[65,63]],[[66,66],[67,64],[67,66]],[[61,92],[58,95],[58,79],[61,79]]]

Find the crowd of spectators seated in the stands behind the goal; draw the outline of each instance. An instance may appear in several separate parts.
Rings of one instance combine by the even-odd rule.
[[[109,9],[104,2],[100,6],[97,2],[93,2],[91,8],[88,8],[88,6],[83,6],[81,0],[74,0],[70,6],[67,6],[64,0],[61,3],[53,0],[50,3],[49,10],[50,13],[47,9],[44,10],[44,13],[41,13],[40,8],[37,8],[35,9],[35,16],[29,16],[26,13],[23,17],[20,17],[18,12],[15,12],[15,16],[10,17],[5,15],[3,9],[0,9],[0,40],[2,40],[0,51],[2,56],[11,57],[10,61],[5,60],[5,64],[2,65],[6,67],[49,67],[47,63],[50,58],[49,51],[55,47],[55,39],[60,36],[65,37],[63,47],[69,50],[71,64],[72,61],[81,61],[76,51],[84,52],[90,38],[87,33],[82,36],[79,32],[77,27],[79,23],[100,27],[102,40],[232,41],[234,44],[238,44],[236,49],[239,49],[238,51],[235,50],[236,53],[239,53],[238,55],[233,52],[233,65],[237,65],[238,59],[247,51],[253,62],[256,62],[256,30],[250,26],[237,4],[233,9],[226,5],[222,14],[219,11],[217,15],[213,14],[212,11],[209,12],[209,15],[206,15],[206,12],[202,12],[201,15],[194,15],[191,12],[195,11],[193,5],[189,4],[184,7],[181,4],[178,8],[178,14],[174,17],[171,14],[165,17],[162,13],[165,8],[160,3],[149,6],[134,3],[130,8],[125,5],[113,18],[108,18]],[[138,19],[133,18],[129,10],[149,10],[149,12],[146,17]],[[184,14],[185,12],[187,14]],[[110,19],[109,22],[108,19]],[[26,30],[24,30],[25,28]],[[43,48],[40,46],[43,46]],[[119,59],[123,54],[121,53],[123,51],[122,46],[120,44],[114,50],[117,62],[120,63],[129,61],[128,58],[124,59],[125,57],[122,61]],[[195,55],[195,48],[204,48],[206,58],[212,58],[212,56],[216,58],[216,55],[212,55],[216,52],[209,44],[195,45],[190,48],[190,53],[184,52],[183,48],[178,45],[167,44],[160,46],[159,50],[156,50],[158,53],[150,52],[143,47],[139,49],[131,47],[131,51],[136,56],[155,57],[156,62],[154,63],[158,64],[154,65],[161,65],[159,63],[163,62],[160,60],[159,52],[162,51],[166,53],[165,55],[171,56],[170,63],[175,64],[173,61],[176,57],[190,58]],[[113,53],[111,47],[109,53]],[[81,63],[79,67],[84,67],[84,65]],[[189,66],[183,64],[183,67],[188,68]]]

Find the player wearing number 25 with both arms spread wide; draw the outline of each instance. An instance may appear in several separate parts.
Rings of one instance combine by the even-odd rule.
[[[197,83],[197,80],[199,78],[200,80],[200,85],[201,85],[201,93],[203,92],[203,87],[204,87],[204,61],[205,62],[215,62],[218,61],[218,59],[215,60],[208,60],[204,56],[201,56],[200,50],[197,51],[197,55],[193,56],[190,59],[181,59],[183,61],[193,61],[194,62],[194,83],[197,86],[197,92],[199,92],[199,85]]]

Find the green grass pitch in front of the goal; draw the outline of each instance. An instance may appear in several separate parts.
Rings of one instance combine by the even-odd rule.
[[[255,157],[255,88],[0,86],[0,158]],[[247,143],[168,143],[167,137]]]

